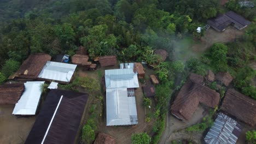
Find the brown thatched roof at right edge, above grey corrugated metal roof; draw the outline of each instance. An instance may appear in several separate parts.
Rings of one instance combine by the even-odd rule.
[[[228,89],[220,109],[249,125],[256,124],[256,100],[235,91],[235,89]]]

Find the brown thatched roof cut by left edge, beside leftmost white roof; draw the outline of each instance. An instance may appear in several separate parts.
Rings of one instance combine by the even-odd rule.
[[[24,83],[11,83],[0,86],[0,104],[16,104],[24,91]]]

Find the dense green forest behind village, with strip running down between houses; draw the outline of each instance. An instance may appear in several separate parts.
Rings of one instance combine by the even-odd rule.
[[[19,68],[31,53],[74,55],[83,45],[91,59],[116,55],[120,62],[146,61],[155,66],[161,85],[156,88],[161,119],[176,77],[206,70],[229,71],[238,91],[256,99],[252,85],[256,60],[256,11],[237,0],[220,5],[218,0],[0,0],[0,83]],[[255,1],[254,1],[254,4]],[[198,40],[196,28],[206,20],[233,10],[252,24],[245,34],[228,44],[214,44],[200,58],[187,62],[174,55],[174,43],[184,37]],[[159,63],[154,50],[165,49],[168,61]],[[182,82],[181,82],[182,85]],[[168,92],[168,93],[167,93]],[[221,93],[221,92],[220,92]],[[166,105],[162,105],[166,104]],[[159,121],[153,143],[160,139]]]

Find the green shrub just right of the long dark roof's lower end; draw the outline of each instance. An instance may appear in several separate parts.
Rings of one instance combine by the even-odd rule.
[[[83,142],[86,142],[86,143],[91,143],[92,141],[95,140],[94,130],[88,124],[84,125],[83,127],[82,140]]]

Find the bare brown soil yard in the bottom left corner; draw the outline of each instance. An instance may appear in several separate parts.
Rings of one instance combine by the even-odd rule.
[[[15,105],[0,105],[0,143],[24,143],[36,116],[17,118],[12,115]]]

